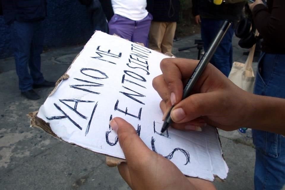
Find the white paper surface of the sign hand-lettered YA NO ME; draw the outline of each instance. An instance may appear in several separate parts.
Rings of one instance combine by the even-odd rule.
[[[96,31],[67,71],[69,79],[61,81],[37,116],[66,142],[124,158],[117,135],[109,126],[110,118],[122,117],[150,149],[167,156],[185,175],[210,181],[214,175],[225,179],[228,167],[216,129],[169,129],[168,136],[159,133],[161,98],[152,80],[162,74],[159,63],[166,57]]]

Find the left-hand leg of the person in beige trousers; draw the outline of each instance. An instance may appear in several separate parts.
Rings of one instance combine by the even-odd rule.
[[[165,33],[166,24],[164,22],[151,22],[149,30],[149,48],[161,52],[161,43]]]

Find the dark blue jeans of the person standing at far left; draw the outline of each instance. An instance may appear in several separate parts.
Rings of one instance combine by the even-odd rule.
[[[33,84],[44,82],[41,73],[43,28],[41,21],[13,23],[14,56],[19,88],[22,92],[32,89]],[[28,70],[30,68],[30,74]]]

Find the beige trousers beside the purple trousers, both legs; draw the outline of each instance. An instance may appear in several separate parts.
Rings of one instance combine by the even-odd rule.
[[[176,22],[151,22],[149,48],[166,53],[172,51]]]

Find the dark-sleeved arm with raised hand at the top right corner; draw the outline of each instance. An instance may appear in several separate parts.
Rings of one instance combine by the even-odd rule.
[[[257,0],[259,2],[261,0]],[[273,43],[285,44],[285,1],[274,0],[271,13],[262,3],[250,5],[259,33]]]

